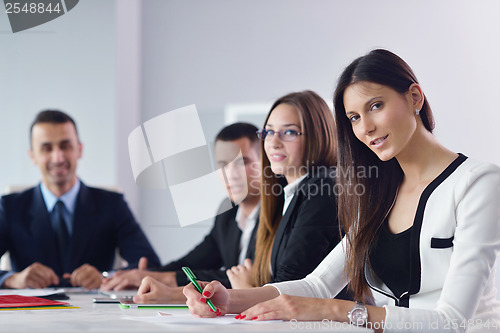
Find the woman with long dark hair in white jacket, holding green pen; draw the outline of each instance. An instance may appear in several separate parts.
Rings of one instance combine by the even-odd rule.
[[[341,244],[302,280],[251,292],[213,282],[203,284],[203,296],[243,319],[331,319],[385,332],[497,331],[500,168],[439,144],[413,71],[389,51],[352,62],[334,106]],[[331,299],[347,283],[358,302]],[[387,305],[368,305],[370,290]],[[192,313],[214,315],[192,286],[184,294]]]

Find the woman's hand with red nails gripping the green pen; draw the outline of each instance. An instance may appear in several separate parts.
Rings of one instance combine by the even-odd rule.
[[[201,282],[198,281],[203,289],[203,294],[194,287],[192,283],[184,287],[183,293],[186,297],[186,305],[189,307],[189,312],[195,317],[216,317],[225,315],[229,302],[229,291],[219,281]],[[215,305],[217,312],[207,305],[207,300],[210,299]]]

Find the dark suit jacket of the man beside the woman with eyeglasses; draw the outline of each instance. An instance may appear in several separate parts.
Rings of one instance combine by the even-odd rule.
[[[223,203],[221,207],[226,205]],[[238,265],[241,230],[236,223],[236,211],[238,206],[233,207],[215,218],[214,226],[205,239],[191,252],[179,260],[173,261],[158,268],[161,271],[175,271],[177,284],[184,286],[189,283],[186,275],[182,272],[183,266],[193,270],[198,280],[218,280],[227,288],[231,287],[226,269]],[[252,231],[246,257],[253,260],[255,252],[255,234],[257,223]]]

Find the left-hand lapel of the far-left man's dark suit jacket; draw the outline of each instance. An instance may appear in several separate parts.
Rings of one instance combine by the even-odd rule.
[[[27,222],[36,244],[35,249],[40,251],[38,258],[44,265],[52,267],[56,274],[62,275],[63,270],[59,261],[56,236],[52,230],[50,216],[40,186],[34,187],[32,194]]]

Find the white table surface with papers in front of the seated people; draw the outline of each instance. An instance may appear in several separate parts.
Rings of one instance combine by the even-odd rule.
[[[344,325],[331,328],[321,322],[275,322],[263,324],[235,325],[158,325],[125,317],[158,317],[158,310],[120,309],[118,304],[94,304],[98,295],[69,294],[66,302],[79,309],[54,310],[14,310],[0,311],[0,332],[293,332],[293,331],[334,331],[371,332],[370,330]],[[163,311],[163,310],[162,310]],[[186,309],[164,310],[165,312],[188,313]],[[313,326],[316,325],[316,326]],[[320,326],[321,325],[321,326]],[[328,326],[328,328],[327,328]],[[316,328],[316,329],[314,329]]]

